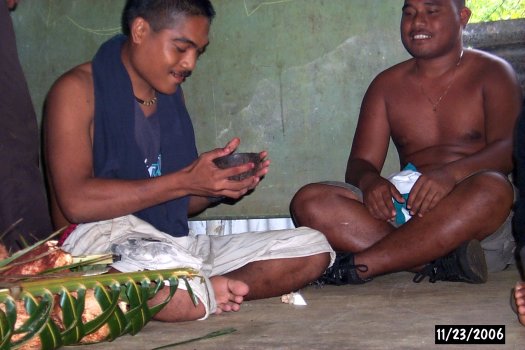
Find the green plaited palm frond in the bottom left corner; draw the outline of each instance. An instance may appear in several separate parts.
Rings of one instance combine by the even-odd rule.
[[[96,341],[134,335],[171,300],[180,279],[196,303],[188,284],[188,279],[196,277],[192,269],[170,269],[22,281],[0,291],[0,349],[16,349],[37,337],[42,349],[86,343],[103,327],[107,334]],[[165,281],[169,287],[165,287]],[[164,288],[169,288],[166,298],[149,305],[149,300]],[[99,308],[91,320],[84,317],[88,293],[93,294]],[[122,308],[121,303],[126,307]],[[56,316],[56,308],[61,318]],[[26,319],[18,319],[23,312]]]

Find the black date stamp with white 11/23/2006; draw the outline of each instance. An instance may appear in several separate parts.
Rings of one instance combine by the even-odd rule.
[[[435,344],[505,344],[505,325],[436,325]]]

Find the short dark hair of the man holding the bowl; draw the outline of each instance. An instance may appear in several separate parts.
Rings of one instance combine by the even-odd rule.
[[[204,16],[211,22],[215,10],[210,0],[127,0],[122,11],[122,33],[130,34],[130,26],[142,17],[156,32],[169,28],[175,17]]]

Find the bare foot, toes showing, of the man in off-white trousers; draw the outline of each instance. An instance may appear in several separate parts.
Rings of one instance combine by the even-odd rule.
[[[239,311],[244,296],[248,294],[250,287],[242,281],[225,276],[214,276],[210,278],[210,281],[217,302],[217,311],[215,313]]]

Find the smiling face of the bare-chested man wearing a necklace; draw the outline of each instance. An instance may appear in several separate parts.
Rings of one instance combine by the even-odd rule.
[[[401,41],[416,58],[439,57],[461,46],[470,10],[457,0],[405,0]]]

